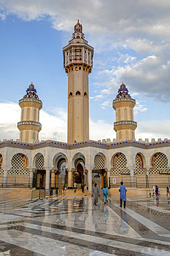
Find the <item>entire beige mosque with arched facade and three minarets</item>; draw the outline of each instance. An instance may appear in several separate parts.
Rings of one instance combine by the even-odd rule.
[[[118,186],[149,188],[169,185],[170,140],[146,138],[136,141],[134,106],[136,100],[121,84],[113,100],[116,111],[116,139],[89,140],[89,83],[94,48],[89,46],[82,25],[74,26],[72,39],[63,48],[65,73],[68,75],[67,143],[39,141],[39,112],[43,107],[36,89],[30,84],[19,100],[21,121],[17,123],[20,138],[0,142],[1,187],[72,189],[73,183],[86,183],[92,191],[98,187]]]

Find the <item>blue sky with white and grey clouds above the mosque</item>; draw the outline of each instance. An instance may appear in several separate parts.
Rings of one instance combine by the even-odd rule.
[[[77,19],[94,47],[89,138],[116,138],[112,101],[124,82],[136,99],[136,140],[170,138],[169,0],[0,0],[0,139],[19,138],[18,101],[34,84],[40,140],[67,141],[63,46]]]

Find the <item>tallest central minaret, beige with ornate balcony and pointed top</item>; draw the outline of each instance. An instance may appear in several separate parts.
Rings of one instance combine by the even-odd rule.
[[[67,142],[89,140],[89,82],[94,48],[84,39],[77,22],[69,44],[63,48],[64,68],[68,74]]]

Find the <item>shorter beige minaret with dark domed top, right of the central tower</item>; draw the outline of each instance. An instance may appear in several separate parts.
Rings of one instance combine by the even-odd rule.
[[[136,100],[132,99],[128,93],[125,84],[120,85],[118,95],[113,101],[113,108],[116,110],[116,122],[114,122],[114,130],[116,131],[116,139],[135,140],[135,129],[137,122],[134,121],[134,107]]]

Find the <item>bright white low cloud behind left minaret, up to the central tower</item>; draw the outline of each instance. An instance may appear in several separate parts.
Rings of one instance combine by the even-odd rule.
[[[21,108],[14,102],[0,102],[1,140],[19,138],[17,122],[21,120]],[[67,112],[61,108],[51,109],[51,113],[40,111],[42,130],[39,133],[40,140],[67,140]]]

